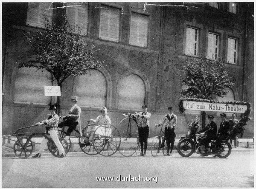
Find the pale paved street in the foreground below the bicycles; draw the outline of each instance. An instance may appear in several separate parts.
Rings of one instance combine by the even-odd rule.
[[[47,155],[40,159],[2,158],[2,187],[253,187],[254,152],[233,151],[226,159],[110,157],[69,153],[66,158]],[[96,177],[129,177],[130,181],[96,181]],[[131,177],[152,178],[132,181]],[[149,177],[149,178],[146,178]],[[153,180],[154,179],[154,180]]]

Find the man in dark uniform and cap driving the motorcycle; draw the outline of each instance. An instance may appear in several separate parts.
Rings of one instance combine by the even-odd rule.
[[[213,121],[214,116],[208,115],[209,123],[206,127],[204,127],[202,130],[199,131],[199,133],[203,133],[206,135],[206,138],[202,141],[204,143],[204,153],[207,156],[211,153],[211,150],[209,149],[209,141],[215,140],[217,135],[217,125]]]

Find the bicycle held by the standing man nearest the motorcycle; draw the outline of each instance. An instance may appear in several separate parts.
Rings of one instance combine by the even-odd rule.
[[[159,135],[155,136],[152,140],[151,155],[152,156],[160,155],[160,150],[162,150],[163,155],[167,155],[167,144],[166,144],[166,139],[163,132],[163,125],[161,126]]]

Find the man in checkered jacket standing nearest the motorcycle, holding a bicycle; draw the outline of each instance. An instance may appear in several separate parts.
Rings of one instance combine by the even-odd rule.
[[[166,144],[167,144],[167,155],[170,156],[170,153],[172,153],[175,136],[176,136],[175,127],[177,126],[177,116],[172,112],[172,107],[168,107],[168,111],[169,113],[166,116],[164,116],[163,120],[159,124],[157,124],[156,127],[165,125],[164,135],[165,135]],[[171,144],[171,149],[170,149],[170,144]],[[169,153],[169,150],[170,150],[170,153]]]

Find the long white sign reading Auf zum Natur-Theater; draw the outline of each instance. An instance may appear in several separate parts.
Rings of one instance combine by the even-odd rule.
[[[211,102],[195,102],[195,101],[183,101],[183,107],[185,108],[185,110],[230,112],[230,113],[244,113],[247,110],[246,105],[211,103]]]

